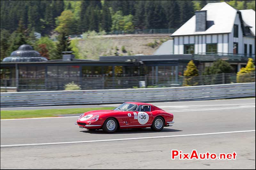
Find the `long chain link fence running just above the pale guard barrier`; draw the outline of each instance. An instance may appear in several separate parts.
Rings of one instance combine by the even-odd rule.
[[[58,91],[65,90],[67,85],[74,90],[99,90],[99,89],[127,89],[127,88],[156,88],[156,87],[178,87],[191,85],[218,85],[229,83],[255,82],[255,72],[244,73],[244,82],[236,81],[235,73],[222,73],[195,77],[88,77],[88,78],[1,78],[1,92],[7,92],[8,88],[17,87],[18,92],[27,91]],[[77,88],[77,89],[76,89]]]

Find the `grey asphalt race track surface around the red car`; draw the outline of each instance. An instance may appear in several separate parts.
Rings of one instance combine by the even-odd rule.
[[[80,129],[77,116],[1,120],[1,169],[255,169],[255,98],[154,105],[174,114],[172,127],[105,134]],[[76,107],[86,106],[63,108]],[[174,149],[237,158],[173,160]]]

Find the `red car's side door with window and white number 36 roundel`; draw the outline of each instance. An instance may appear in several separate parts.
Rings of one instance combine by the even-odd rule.
[[[133,113],[132,126],[146,126],[152,124],[153,115],[150,105],[139,105],[136,112]]]

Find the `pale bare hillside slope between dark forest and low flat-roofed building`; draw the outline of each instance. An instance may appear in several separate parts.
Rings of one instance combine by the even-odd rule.
[[[79,56],[76,58],[98,60],[99,56],[115,55],[116,52],[119,55],[153,55],[163,42],[170,39],[168,35],[87,38],[79,40]]]

